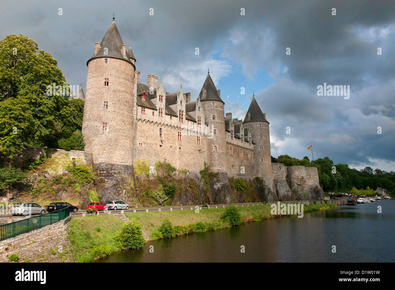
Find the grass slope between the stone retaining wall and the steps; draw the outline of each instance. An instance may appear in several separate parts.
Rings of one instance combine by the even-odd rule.
[[[95,258],[122,250],[113,237],[123,224],[120,218],[108,214],[72,218],[69,237],[77,261],[92,262]]]

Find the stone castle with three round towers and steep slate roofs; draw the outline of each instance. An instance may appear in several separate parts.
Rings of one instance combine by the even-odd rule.
[[[150,74],[147,83],[140,82],[136,62],[113,18],[87,61],[82,134],[96,169],[133,172],[134,161],[154,165],[166,159],[176,169],[199,172],[206,161],[213,171],[227,176],[260,177],[269,201],[283,194],[279,190],[290,193],[290,170],[271,163],[269,122],[254,97],[245,119],[239,120],[225,114],[221,92],[209,73],[197,99],[191,100],[182,85],[168,92],[158,76]],[[309,174],[318,184],[315,167],[297,172],[303,186]]]

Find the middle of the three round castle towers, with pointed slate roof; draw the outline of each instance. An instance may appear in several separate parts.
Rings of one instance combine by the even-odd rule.
[[[205,125],[208,126],[207,161],[211,164],[213,171],[224,172],[228,158],[225,132],[225,103],[222,101],[220,91],[216,89],[209,73],[199,97],[205,116]]]

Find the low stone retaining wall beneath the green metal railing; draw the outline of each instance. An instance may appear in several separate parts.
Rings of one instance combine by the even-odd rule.
[[[53,258],[59,246],[62,251],[67,249],[70,252],[70,220],[71,216],[68,216],[55,224],[0,241],[0,262],[8,262],[10,254],[17,254],[18,262],[51,261],[48,257]]]

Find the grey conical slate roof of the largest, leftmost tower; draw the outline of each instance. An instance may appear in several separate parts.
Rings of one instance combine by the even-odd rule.
[[[110,25],[110,28],[108,28],[107,33],[103,37],[102,42],[100,42],[100,49],[98,53],[93,55],[87,61],[87,65],[91,59],[96,59],[98,57],[112,57],[115,59],[123,59],[130,63],[128,54],[126,54],[125,57],[122,55],[122,44],[122,38],[118,32],[117,25],[115,25],[115,21],[113,21],[113,23],[111,23]]]

